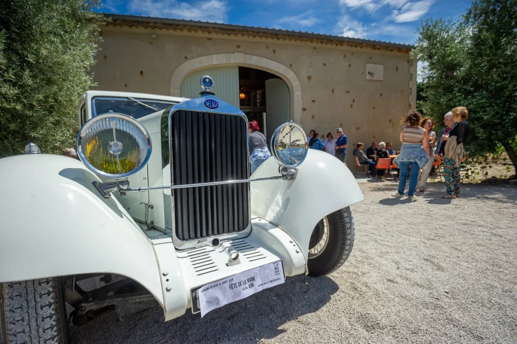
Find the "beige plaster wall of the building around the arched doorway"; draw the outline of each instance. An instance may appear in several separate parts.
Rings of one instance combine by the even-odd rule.
[[[416,61],[404,53],[120,27],[106,27],[102,36],[93,68],[96,89],[102,90],[171,95],[178,67],[212,54],[244,53],[278,62],[299,80],[301,100],[293,102],[293,96],[291,104],[298,107],[303,128],[320,135],[343,128],[352,169],[356,142],[368,147],[372,140],[391,141],[400,148],[399,120],[416,103]],[[366,64],[384,65],[384,80],[366,80]]]

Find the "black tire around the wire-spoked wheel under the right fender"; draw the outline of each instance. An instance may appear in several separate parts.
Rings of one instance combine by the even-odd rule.
[[[324,248],[316,254],[311,254],[314,243],[323,239],[321,233],[327,224],[327,237]],[[354,217],[349,207],[327,215],[316,225],[309,246],[308,268],[309,276],[323,276],[336,271],[344,264],[352,252],[355,238]]]

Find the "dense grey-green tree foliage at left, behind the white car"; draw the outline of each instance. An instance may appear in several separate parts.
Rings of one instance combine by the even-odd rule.
[[[0,157],[28,142],[74,145],[78,100],[93,84],[102,15],[97,0],[0,2]]]

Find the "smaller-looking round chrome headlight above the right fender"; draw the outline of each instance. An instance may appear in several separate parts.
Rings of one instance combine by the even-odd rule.
[[[271,137],[271,153],[284,167],[301,164],[307,156],[307,149],[307,136],[296,123],[282,124]]]

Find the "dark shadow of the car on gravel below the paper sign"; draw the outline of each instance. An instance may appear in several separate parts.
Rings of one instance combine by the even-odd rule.
[[[117,322],[113,315],[70,327],[74,344],[256,343],[278,336],[282,325],[322,308],[339,286],[329,277],[289,277],[285,283],[212,310],[204,318],[188,309],[164,322],[157,307]]]

